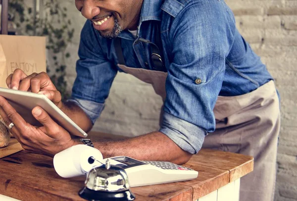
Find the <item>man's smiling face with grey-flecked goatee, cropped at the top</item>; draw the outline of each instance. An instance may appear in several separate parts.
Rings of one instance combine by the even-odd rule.
[[[115,38],[125,29],[136,30],[142,3],[143,0],[75,0],[76,8],[106,38]]]

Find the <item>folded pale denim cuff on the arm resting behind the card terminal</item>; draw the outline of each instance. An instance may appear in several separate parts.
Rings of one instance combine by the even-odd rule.
[[[188,121],[181,120],[164,112],[159,132],[167,135],[181,149],[197,154],[202,147],[207,131]]]

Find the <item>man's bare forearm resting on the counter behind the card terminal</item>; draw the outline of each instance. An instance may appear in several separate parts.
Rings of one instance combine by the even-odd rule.
[[[137,160],[171,161],[186,163],[192,156],[183,151],[169,137],[161,132],[151,132],[134,138],[119,141],[93,142],[103,158],[128,156]]]

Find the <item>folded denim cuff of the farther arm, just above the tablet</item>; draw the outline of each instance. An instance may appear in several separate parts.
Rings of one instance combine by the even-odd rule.
[[[74,102],[76,105],[78,105],[91,119],[93,125],[95,121],[99,118],[102,110],[104,109],[103,103],[97,103],[90,100],[83,100],[75,97],[71,97],[66,102]]]

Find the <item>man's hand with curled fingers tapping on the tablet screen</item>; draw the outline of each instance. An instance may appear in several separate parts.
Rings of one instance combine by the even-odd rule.
[[[10,74],[6,79],[8,88],[21,91],[32,91],[46,95],[58,108],[62,107],[61,93],[51,82],[48,74],[33,73],[27,76],[21,69],[16,69],[13,74]]]

